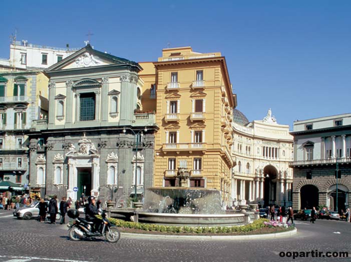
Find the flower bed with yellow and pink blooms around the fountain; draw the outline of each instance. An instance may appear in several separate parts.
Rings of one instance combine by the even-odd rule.
[[[221,234],[221,235],[240,235],[240,234],[260,234],[260,233],[276,233],[289,231],[294,229],[294,226],[274,226],[269,224],[268,219],[255,220],[251,224],[243,226],[173,226],[159,225],[148,223],[128,222],[116,218],[109,218],[111,223],[122,228],[124,232],[134,233],[170,233],[170,234]]]

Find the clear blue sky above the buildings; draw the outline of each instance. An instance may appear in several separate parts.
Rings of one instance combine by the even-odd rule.
[[[191,45],[226,57],[237,108],[269,107],[279,123],[351,112],[351,1],[2,1],[0,57],[10,35],[152,61]]]

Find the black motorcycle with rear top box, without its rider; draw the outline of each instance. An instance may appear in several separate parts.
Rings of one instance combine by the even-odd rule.
[[[74,218],[72,225],[68,229],[69,236],[74,241],[82,240],[84,237],[105,236],[106,240],[112,243],[117,242],[121,233],[118,227],[111,224],[106,218],[106,212],[102,212],[102,224],[99,225],[98,233],[92,232],[93,222],[79,217],[79,212],[75,209],[70,209],[67,212],[68,216]]]

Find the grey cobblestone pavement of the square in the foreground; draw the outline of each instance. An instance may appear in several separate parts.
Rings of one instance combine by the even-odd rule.
[[[155,240],[121,236],[72,241],[67,226],[18,220],[0,210],[0,261],[350,261],[351,223],[296,221],[298,233],[266,240]],[[340,232],[340,233],[337,233]],[[348,251],[348,258],[280,257],[284,251]]]

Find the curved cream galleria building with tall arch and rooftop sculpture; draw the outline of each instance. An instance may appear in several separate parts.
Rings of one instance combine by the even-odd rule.
[[[293,137],[289,126],[278,124],[271,110],[263,120],[249,122],[233,111],[233,167],[231,197],[234,202],[291,205]]]

